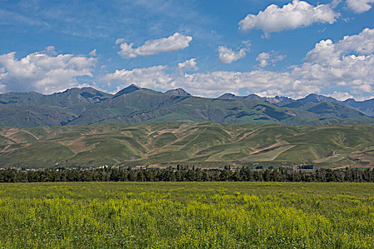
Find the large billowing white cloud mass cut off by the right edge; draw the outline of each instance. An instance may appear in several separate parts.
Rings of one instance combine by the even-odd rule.
[[[323,79],[337,85],[371,85],[374,83],[374,29],[365,28],[338,43],[320,41],[295,69],[305,78]],[[356,53],[356,54],[355,54]],[[357,87],[355,87],[357,88]],[[360,90],[370,92],[371,88]]]

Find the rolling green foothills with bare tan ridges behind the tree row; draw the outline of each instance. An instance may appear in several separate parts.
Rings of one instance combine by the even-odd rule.
[[[0,128],[0,167],[374,166],[367,124],[154,123]]]

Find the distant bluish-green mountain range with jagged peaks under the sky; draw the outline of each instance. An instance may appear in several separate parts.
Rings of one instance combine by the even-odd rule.
[[[114,95],[94,88],[0,94],[0,126],[38,127],[149,122],[220,124],[374,124],[374,99],[338,101],[311,94],[289,97],[195,97],[178,88],[157,92],[130,85]]]

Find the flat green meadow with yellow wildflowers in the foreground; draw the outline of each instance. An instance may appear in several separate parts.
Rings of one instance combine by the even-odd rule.
[[[0,248],[374,248],[374,184],[0,184]]]

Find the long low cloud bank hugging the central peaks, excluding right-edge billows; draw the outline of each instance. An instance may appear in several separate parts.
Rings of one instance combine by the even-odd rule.
[[[250,92],[265,92],[276,88],[283,95],[303,97],[304,92],[311,92],[315,89],[313,85],[295,84],[290,73],[265,70],[244,73],[234,71],[167,73],[166,70],[167,67],[164,65],[134,70],[116,70],[115,73],[106,75],[102,80],[106,83],[117,83],[118,89],[135,83],[142,87],[159,90],[184,88],[193,95],[203,97],[217,97],[224,92],[239,94],[239,88],[249,88]]]

